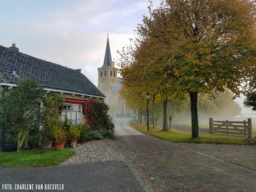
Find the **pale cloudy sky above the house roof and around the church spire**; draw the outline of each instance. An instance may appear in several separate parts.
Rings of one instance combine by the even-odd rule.
[[[160,0],[153,1],[154,5]],[[80,68],[97,86],[107,32],[112,60],[134,38],[148,0],[0,0],[0,45]]]

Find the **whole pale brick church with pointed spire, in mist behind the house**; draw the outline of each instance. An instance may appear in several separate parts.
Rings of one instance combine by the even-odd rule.
[[[97,88],[106,96],[105,103],[110,106],[110,116],[112,117],[129,117],[130,109],[122,100],[119,90],[121,89],[121,78],[117,77],[118,68],[112,61],[109,36],[107,36],[107,45],[102,67],[98,68],[98,86]]]

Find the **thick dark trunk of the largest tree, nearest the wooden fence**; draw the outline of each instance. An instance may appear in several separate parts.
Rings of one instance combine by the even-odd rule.
[[[198,93],[189,92],[190,105],[191,105],[191,128],[192,138],[199,137],[199,125],[198,125]]]

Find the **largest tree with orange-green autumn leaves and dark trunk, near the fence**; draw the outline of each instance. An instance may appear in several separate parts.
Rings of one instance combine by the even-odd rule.
[[[141,45],[155,48],[137,52],[152,59],[144,72],[157,74],[152,83],[165,78],[175,95],[189,94],[192,137],[199,137],[198,94],[227,87],[239,96],[247,88],[255,67],[255,1],[166,0],[149,13],[137,28]]]

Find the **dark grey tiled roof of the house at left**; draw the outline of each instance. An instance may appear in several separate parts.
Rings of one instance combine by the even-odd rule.
[[[0,82],[18,83],[28,77],[45,88],[105,97],[85,75],[76,70],[0,46]]]

